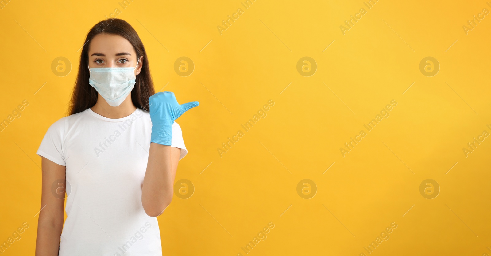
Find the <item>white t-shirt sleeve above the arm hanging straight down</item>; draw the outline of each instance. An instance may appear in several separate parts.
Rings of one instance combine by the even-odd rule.
[[[66,166],[65,156],[62,150],[64,133],[65,118],[63,117],[48,128],[36,154],[40,157],[45,157],[54,163]]]

